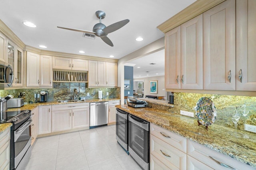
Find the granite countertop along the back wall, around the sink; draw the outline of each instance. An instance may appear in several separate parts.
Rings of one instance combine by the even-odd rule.
[[[9,108],[7,111],[21,111],[21,110],[32,110],[37,106],[47,106],[47,105],[59,105],[59,104],[79,104],[79,103],[92,103],[92,102],[108,102],[108,101],[116,101],[120,100],[120,98],[108,98],[108,99],[86,99],[83,102],[43,102],[43,103],[33,103],[33,104],[24,104],[22,107],[17,108]]]

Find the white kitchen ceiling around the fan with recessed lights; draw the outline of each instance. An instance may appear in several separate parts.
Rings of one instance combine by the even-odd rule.
[[[49,51],[120,59],[164,36],[156,27],[195,0],[0,0],[2,20],[26,45],[46,45]],[[57,28],[69,27],[92,31],[99,22],[95,12],[102,10],[106,26],[129,19],[130,22],[108,35],[114,47],[99,37],[88,39],[81,32]],[[37,25],[26,27],[22,21]],[[141,36],[144,41],[135,41]],[[152,73],[154,74],[154,73]]]

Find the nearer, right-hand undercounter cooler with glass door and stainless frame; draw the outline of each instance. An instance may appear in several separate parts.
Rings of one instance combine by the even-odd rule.
[[[149,122],[134,115],[128,116],[128,150],[144,170],[149,170]]]

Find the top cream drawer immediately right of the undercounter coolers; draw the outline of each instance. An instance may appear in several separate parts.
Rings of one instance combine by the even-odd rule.
[[[172,145],[173,147],[180,149],[182,152],[186,153],[187,151],[185,137],[177,135],[152,123],[150,123],[150,134],[158,137],[159,139]]]

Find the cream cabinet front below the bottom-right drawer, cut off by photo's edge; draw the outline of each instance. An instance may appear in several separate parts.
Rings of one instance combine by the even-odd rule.
[[[187,155],[187,170],[214,170],[206,164],[196,160],[195,158]]]

